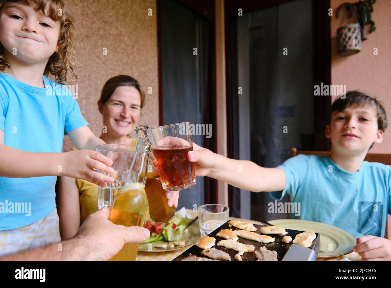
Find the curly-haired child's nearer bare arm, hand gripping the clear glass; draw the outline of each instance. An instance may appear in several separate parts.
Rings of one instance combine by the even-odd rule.
[[[100,186],[113,182],[94,169],[112,174],[113,162],[106,156],[91,150],[66,153],[27,152],[4,145],[4,131],[0,130],[0,176],[29,178],[41,176],[68,176],[80,178]]]

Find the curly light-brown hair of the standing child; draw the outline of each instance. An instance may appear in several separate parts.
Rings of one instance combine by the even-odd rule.
[[[49,57],[45,67],[44,75],[49,73],[56,77],[56,82],[65,83],[72,78],[77,79],[75,71],[77,70],[76,59],[74,56],[75,46],[75,18],[72,16],[64,0],[0,0],[0,11],[5,2],[22,2],[25,5],[36,6],[36,11],[48,13],[48,16],[54,21],[59,21],[59,53],[54,53]],[[0,72],[8,73],[11,70],[7,59],[4,56],[4,46],[0,43]]]

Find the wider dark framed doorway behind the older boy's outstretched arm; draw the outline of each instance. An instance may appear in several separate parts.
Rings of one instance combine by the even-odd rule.
[[[330,100],[315,98],[313,88],[330,83],[330,62],[324,56],[330,55],[330,42],[324,40],[330,33],[323,31],[323,25],[330,26],[323,16],[329,7],[325,2],[226,2],[230,158],[276,167],[290,157],[291,147],[326,150],[319,127],[325,127]],[[229,201],[232,216],[266,221],[286,217],[268,213],[274,199],[266,192],[229,187]]]

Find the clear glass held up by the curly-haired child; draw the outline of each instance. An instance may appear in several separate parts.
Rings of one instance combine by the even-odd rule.
[[[133,158],[135,157],[135,146],[104,144],[95,147],[95,150],[113,161],[111,168],[114,174],[99,171],[114,178],[113,183],[106,183],[105,187],[98,187],[98,209],[113,205],[113,196],[125,185],[127,175]]]

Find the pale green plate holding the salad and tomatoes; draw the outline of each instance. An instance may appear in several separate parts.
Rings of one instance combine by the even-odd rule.
[[[193,219],[187,219],[186,225],[188,225]],[[182,248],[188,248],[192,246],[195,241],[197,241],[200,237],[201,234],[199,232],[199,221],[196,220],[188,227],[189,232],[183,234],[182,239],[180,240],[185,240],[185,245],[183,246],[175,246],[174,248],[155,248],[156,244],[167,244],[168,242],[166,241],[156,241],[152,243],[145,243],[145,244],[140,244],[138,245],[138,251],[143,251],[143,252],[168,252],[168,251],[174,251]],[[152,246],[148,246],[149,244],[152,244]]]

